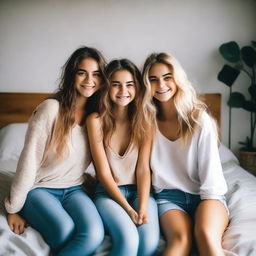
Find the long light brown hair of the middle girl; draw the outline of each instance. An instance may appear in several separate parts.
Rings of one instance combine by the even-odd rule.
[[[111,61],[106,67],[106,76],[108,82],[106,87],[102,91],[102,97],[100,99],[100,116],[102,118],[103,137],[105,145],[109,145],[111,135],[115,131],[115,115],[114,115],[114,103],[110,99],[109,91],[111,87],[111,77],[113,74],[120,70],[127,70],[134,78],[136,95],[135,98],[128,105],[128,118],[131,131],[131,142],[138,145],[143,137],[145,137],[146,130],[146,118],[143,114],[143,97],[145,94],[145,87],[142,83],[142,77],[139,69],[129,60],[120,59]]]

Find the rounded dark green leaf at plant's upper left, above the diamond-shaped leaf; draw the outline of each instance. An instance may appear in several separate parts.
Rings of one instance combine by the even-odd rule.
[[[238,62],[240,60],[239,45],[235,41],[222,44],[219,47],[222,57],[229,62]]]

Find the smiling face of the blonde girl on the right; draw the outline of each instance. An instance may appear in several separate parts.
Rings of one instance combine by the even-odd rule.
[[[152,96],[160,102],[169,101],[177,92],[172,69],[166,64],[155,63],[152,65],[149,70],[149,81]]]

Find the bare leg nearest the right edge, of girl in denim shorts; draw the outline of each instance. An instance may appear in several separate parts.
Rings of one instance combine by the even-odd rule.
[[[228,225],[228,214],[218,200],[203,200],[196,211],[195,238],[201,256],[224,256],[222,236]]]

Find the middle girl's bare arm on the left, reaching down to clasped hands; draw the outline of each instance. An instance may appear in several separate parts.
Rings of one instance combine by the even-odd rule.
[[[103,183],[109,195],[124,208],[136,224],[137,214],[120,192],[111,173],[104,148],[102,122],[99,115],[97,113],[91,114],[86,120],[86,125],[91,154],[96,167],[95,169],[98,179]]]

